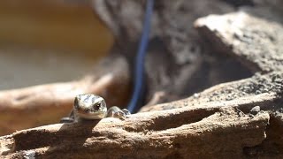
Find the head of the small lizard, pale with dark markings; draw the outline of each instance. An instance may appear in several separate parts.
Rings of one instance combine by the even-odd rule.
[[[107,114],[104,99],[98,95],[77,95],[74,98],[73,112],[75,116],[86,119],[101,119]]]

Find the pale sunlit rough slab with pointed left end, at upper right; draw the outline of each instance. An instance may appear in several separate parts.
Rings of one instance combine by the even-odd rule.
[[[245,12],[226,16],[210,15],[195,26],[213,41],[216,49],[241,58],[256,72],[281,71],[283,64],[283,27]]]

